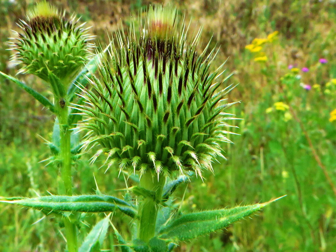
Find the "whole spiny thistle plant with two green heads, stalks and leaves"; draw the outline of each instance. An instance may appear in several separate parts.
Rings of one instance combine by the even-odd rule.
[[[54,92],[55,104],[0,72],[57,116],[52,144],[61,160],[64,188],[58,189],[59,195],[1,198],[0,202],[62,216],[69,252],[100,251],[109,223],[121,251],[170,252],[179,241],[225,228],[272,202],[183,214],[172,196],[177,186],[188,181],[187,175],[195,172],[202,177],[202,169],[212,170],[212,162],[223,157],[220,144],[231,142],[226,137],[230,133],[227,128],[235,127],[226,123],[234,119],[232,114],[224,112],[235,103],[224,103],[224,96],[234,87],[217,90],[229,76],[220,78],[223,65],[210,70],[216,53],[214,49],[206,53],[209,44],[197,53],[201,30],[188,42],[188,29],[184,20],[178,21],[175,9],[152,7],[144,23],[140,22],[139,32],[134,23],[127,35],[122,31],[115,34],[108,55],[102,52],[84,67],[82,73],[94,72],[92,64],[98,58],[101,78],[84,75],[92,88],[84,87],[86,79],[77,78],[66,93],[62,82],[71,81],[91,47],[87,43],[90,37],[81,26],[75,28],[73,20],[66,21],[46,2],[40,3],[30,13],[28,24],[22,21],[25,35],[19,34],[14,44],[15,57],[25,64],[21,72],[36,74],[59,91],[59,95]],[[69,114],[68,104],[75,102],[73,96],[78,90],[75,83],[82,98],[72,103],[74,108]],[[97,195],[73,195],[72,155],[78,152],[77,147],[72,149],[76,137],[72,137],[70,125],[77,124],[81,116],[84,120],[78,128],[88,130],[85,146],[99,145],[92,162],[106,153],[108,168],[116,164],[120,171],[140,175],[139,185],[128,187],[124,199],[101,194],[98,185]],[[176,173],[181,174],[176,179],[168,178]],[[92,228],[79,247],[76,226],[82,220],[76,216],[85,215],[71,212],[115,211],[133,219],[132,241],[124,240],[108,215]],[[61,212],[67,213],[60,215]]]

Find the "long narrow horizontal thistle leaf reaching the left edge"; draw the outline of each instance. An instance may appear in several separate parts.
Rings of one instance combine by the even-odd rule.
[[[44,212],[113,212],[120,210],[134,218],[134,206],[124,200],[108,195],[78,195],[78,196],[42,196],[22,200],[1,200],[0,202],[31,207]]]

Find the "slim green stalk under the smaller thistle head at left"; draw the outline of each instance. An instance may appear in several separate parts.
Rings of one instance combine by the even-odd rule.
[[[61,158],[61,177],[65,187],[65,193],[72,196],[72,178],[71,178],[71,132],[68,125],[69,110],[63,98],[58,102],[58,122],[60,134],[60,158]],[[64,219],[66,238],[69,252],[77,252],[76,226],[69,219]]]

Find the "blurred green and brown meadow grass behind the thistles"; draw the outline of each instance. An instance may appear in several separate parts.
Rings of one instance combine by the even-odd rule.
[[[34,2],[0,0],[0,71],[6,74],[15,75],[18,69],[9,62],[11,52],[6,50],[11,29],[17,30],[15,23],[24,18]],[[215,175],[206,172],[204,183],[194,179],[188,185],[183,210],[215,209],[288,196],[252,219],[211,234],[210,238],[183,243],[176,251],[336,251],[335,194],[304,134],[310,137],[336,184],[336,121],[329,121],[331,111],[336,109],[336,80],[332,81],[336,78],[335,1],[49,2],[82,16],[101,42],[107,42],[108,34],[119,26],[127,28],[130,15],[136,15],[142,7],[170,3],[181,15],[185,13],[186,20],[192,18],[191,34],[203,26],[200,50],[210,37],[211,45],[220,48],[213,67],[227,60],[226,73],[235,72],[229,83],[240,84],[229,101],[242,102],[230,112],[244,119],[234,122],[240,127],[235,132],[241,136],[230,136],[235,144],[224,146],[228,160],[215,164]],[[266,38],[274,31],[279,31],[278,39],[262,45],[264,54],[245,49],[253,39]],[[255,61],[258,54],[267,60]],[[327,64],[320,64],[319,58],[326,58]],[[289,70],[288,65],[297,67],[299,73]],[[309,72],[302,72],[303,67]],[[18,78],[51,97],[45,84],[34,76]],[[303,85],[313,88],[306,90]],[[292,111],[277,110],[274,103],[281,101]],[[40,136],[50,139],[52,124],[52,115],[37,101],[0,77],[1,196],[56,193],[57,169],[39,163],[49,155]],[[123,179],[116,178],[117,171],[103,174],[99,163],[88,164],[88,157],[84,156],[75,167],[76,193],[94,193],[94,174],[101,192],[122,197],[120,191],[114,191],[124,187]],[[183,191],[177,195],[182,197]],[[0,205],[0,216],[0,251],[64,251],[56,219],[40,220],[40,212],[11,205]],[[84,236],[100,217],[86,215],[80,235]],[[127,236],[129,219],[116,214],[113,221]],[[106,251],[120,251],[112,244],[110,232]]]

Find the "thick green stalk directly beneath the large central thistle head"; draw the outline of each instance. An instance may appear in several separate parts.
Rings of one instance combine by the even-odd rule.
[[[160,178],[157,179],[152,175],[151,171],[145,172],[140,179],[140,186],[155,192],[156,195],[156,200],[152,198],[143,199],[139,207],[140,220],[138,238],[145,243],[148,243],[155,235],[155,224],[159,210],[157,202],[161,201],[164,183],[164,176],[160,176]]]

